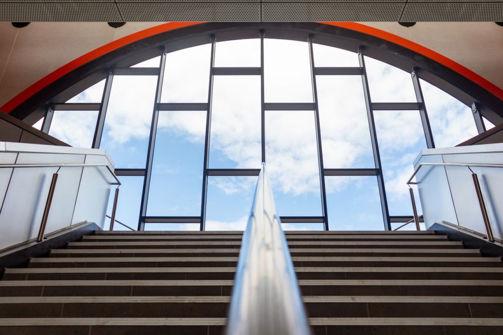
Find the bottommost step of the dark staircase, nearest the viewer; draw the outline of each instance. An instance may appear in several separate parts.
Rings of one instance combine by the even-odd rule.
[[[5,318],[3,334],[220,334],[225,318]],[[501,318],[310,318],[313,334],[500,334]]]

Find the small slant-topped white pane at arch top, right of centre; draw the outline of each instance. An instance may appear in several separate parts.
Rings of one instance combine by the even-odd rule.
[[[360,67],[355,52],[313,43],[313,54],[316,67]]]

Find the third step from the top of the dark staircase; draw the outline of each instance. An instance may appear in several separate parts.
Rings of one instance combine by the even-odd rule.
[[[289,241],[290,248],[463,248],[457,241]],[[83,241],[69,242],[68,249],[79,248],[240,248],[241,241]]]

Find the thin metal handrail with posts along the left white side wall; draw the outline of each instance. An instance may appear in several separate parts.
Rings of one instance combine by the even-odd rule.
[[[111,185],[121,185],[121,181],[115,175],[114,171],[105,163],[84,163],[84,164],[0,164],[0,168],[35,168],[35,167],[57,167],[56,173],[53,173],[51,184],[49,186],[49,193],[47,194],[46,205],[44,207],[44,213],[42,214],[42,221],[40,222],[39,234],[37,235],[37,242],[42,242],[44,240],[45,230],[47,226],[47,219],[49,218],[49,211],[51,210],[52,198],[54,196],[54,191],[56,190],[56,182],[58,180],[58,172],[62,167],[101,167],[104,166],[114,177],[116,182],[111,182]],[[115,218],[115,212],[117,209],[117,197],[119,195],[119,186],[115,192],[114,198],[114,208],[113,216]],[[113,222],[113,221],[112,221]],[[113,227],[113,224],[112,224]],[[128,227],[129,228],[129,227]]]

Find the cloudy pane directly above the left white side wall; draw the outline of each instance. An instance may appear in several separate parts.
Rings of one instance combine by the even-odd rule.
[[[91,147],[97,119],[97,110],[55,110],[49,135],[71,146]]]

